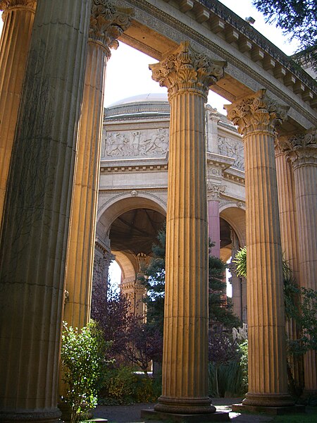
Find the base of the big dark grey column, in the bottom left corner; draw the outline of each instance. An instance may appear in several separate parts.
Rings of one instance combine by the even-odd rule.
[[[0,410],[1,423],[61,423],[61,411],[58,408],[46,411],[11,411]]]

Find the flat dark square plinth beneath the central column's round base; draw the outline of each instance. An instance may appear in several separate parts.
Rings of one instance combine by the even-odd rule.
[[[175,423],[200,423],[200,422],[230,422],[228,412],[210,412],[204,414],[183,415],[173,412],[160,412],[154,409],[141,410],[141,417],[147,420],[168,420]]]

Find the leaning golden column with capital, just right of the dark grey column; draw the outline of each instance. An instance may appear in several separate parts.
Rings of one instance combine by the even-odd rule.
[[[90,317],[106,62],[130,25],[130,12],[92,0],[66,266],[64,320],[77,328]]]

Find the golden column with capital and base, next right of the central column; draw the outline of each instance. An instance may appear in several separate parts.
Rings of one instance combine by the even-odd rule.
[[[245,406],[294,405],[287,393],[275,125],[286,112],[259,90],[225,106],[244,140],[249,392]],[[243,405],[242,405],[243,407]]]

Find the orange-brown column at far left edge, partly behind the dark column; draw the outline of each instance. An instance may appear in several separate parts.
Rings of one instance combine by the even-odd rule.
[[[36,0],[0,0],[0,224]]]

